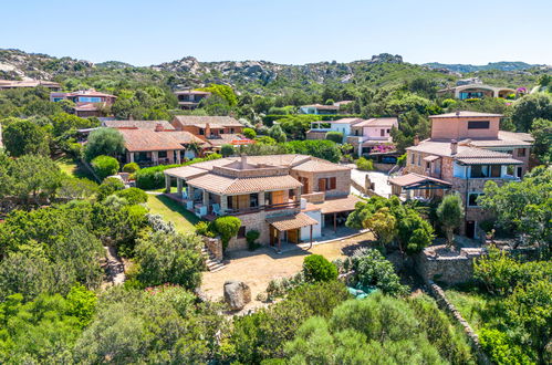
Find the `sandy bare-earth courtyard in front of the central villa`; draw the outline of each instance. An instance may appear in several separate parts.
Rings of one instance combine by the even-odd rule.
[[[222,288],[227,280],[241,280],[251,288],[251,303],[246,310],[261,306],[257,295],[265,291],[273,279],[289,278],[301,271],[306,255],[322,254],[327,260],[351,254],[356,248],[372,240],[372,233],[314,246],[311,250],[295,249],[281,254],[271,248],[261,248],[254,252],[238,251],[229,253],[226,269],[217,272],[204,272],[201,291],[212,301],[222,299]]]

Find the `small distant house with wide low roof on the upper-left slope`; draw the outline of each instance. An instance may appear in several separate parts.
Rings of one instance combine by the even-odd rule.
[[[77,91],[72,93],[51,93],[51,102],[60,102],[69,100],[75,103],[74,112],[76,116],[88,117],[105,116],[104,108],[110,107],[115,103],[114,95],[96,92],[95,90]]]

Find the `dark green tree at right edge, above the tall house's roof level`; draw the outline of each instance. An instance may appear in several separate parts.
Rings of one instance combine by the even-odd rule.
[[[519,132],[531,131],[537,118],[552,119],[552,95],[534,93],[522,96],[513,103],[510,118]]]

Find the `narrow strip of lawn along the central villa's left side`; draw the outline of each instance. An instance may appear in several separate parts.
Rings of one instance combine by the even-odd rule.
[[[159,215],[166,221],[173,222],[179,232],[195,231],[194,225],[199,221],[199,218],[194,213],[163,195],[148,194],[147,206],[153,213]]]

